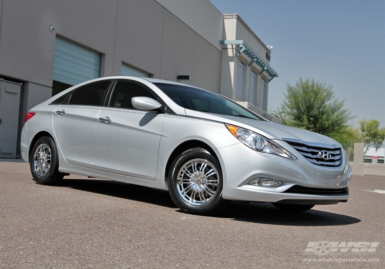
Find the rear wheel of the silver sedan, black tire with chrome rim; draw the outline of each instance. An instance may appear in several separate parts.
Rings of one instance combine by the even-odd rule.
[[[33,145],[29,160],[33,180],[37,184],[55,185],[63,179],[55,141],[50,136],[39,138]]]

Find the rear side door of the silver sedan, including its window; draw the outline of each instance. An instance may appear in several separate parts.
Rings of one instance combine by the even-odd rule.
[[[103,80],[80,87],[52,112],[57,146],[67,162],[92,167],[95,126],[109,84]]]

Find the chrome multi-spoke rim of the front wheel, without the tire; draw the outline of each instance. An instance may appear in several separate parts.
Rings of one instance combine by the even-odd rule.
[[[178,192],[192,205],[208,203],[218,191],[218,171],[212,163],[204,159],[186,162],[178,172]]]

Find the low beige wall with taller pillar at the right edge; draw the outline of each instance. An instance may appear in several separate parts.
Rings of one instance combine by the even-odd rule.
[[[354,143],[353,173],[385,176],[385,163],[363,162],[363,152],[363,143]]]

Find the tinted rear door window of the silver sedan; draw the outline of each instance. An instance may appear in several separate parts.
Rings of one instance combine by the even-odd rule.
[[[95,82],[73,91],[69,105],[102,106],[110,80]]]

